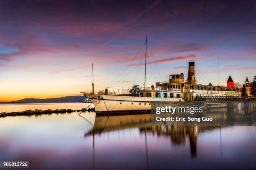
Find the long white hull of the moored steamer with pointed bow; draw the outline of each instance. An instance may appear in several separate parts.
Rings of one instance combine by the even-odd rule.
[[[97,114],[150,113],[151,102],[182,102],[182,98],[133,97],[118,95],[98,95],[84,92],[92,100]]]

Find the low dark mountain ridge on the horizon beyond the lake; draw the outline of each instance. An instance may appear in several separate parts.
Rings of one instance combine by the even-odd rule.
[[[51,102],[82,102],[85,99],[84,96],[66,96],[58,98],[49,98],[49,99],[35,99],[35,98],[26,98],[17,100],[18,103],[51,103]]]

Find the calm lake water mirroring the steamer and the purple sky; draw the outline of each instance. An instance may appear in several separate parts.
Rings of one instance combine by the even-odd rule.
[[[95,112],[0,117],[0,161],[28,160],[31,169],[256,169],[255,158],[256,126],[155,126],[151,114]]]

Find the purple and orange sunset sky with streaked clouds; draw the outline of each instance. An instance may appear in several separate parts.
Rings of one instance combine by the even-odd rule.
[[[0,101],[256,75],[256,1],[0,0]]]

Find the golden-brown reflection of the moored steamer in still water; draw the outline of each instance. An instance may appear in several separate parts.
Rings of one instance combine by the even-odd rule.
[[[197,155],[197,135],[206,130],[220,129],[219,126],[151,126],[151,114],[143,115],[120,115],[120,116],[100,116],[95,118],[93,130],[86,133],[84,137],[93,136],[93,146],[95,135],[101,136],[102,133],[121,130],[125,128],[138,128],[141,135],[145,135],[145,145],[147,150],[147,133],[156,136],[165,136],[170,138],[174,145],[185,144],[186,136],[189,138],[191,156]],[[156,143],[157,145],[157,143]]]

